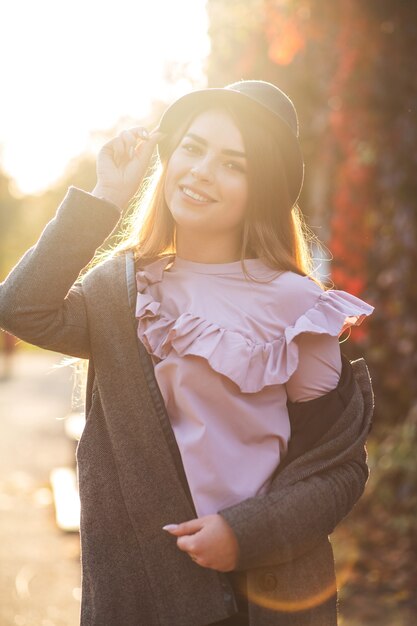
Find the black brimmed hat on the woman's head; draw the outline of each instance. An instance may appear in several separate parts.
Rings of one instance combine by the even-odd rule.
[[[240,80],[225,87],[192,91],[168,107],[159,122],[159,130],[171,134],[183,117],[192,113],[196,106],[223,102],[246,102],[251,106],[254,104],[258,111],[277,126],[282,139],[283,163],[293,206],[300,195],[304,178],[304,161],[298,142],[298,117],[290,98],[272,83],[263,80]],[[162,143],[163,140],[160,144]]]

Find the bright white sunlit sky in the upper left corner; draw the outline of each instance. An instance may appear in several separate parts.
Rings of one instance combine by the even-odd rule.
[[[97,150],[97,135],[140,120],[152,100],[206,86],[205,0],[2,3],[0,165],[22,193]],[[185,64],[175,83],[170,63]],[[129,124],[130,125],[130,124]],[[95,137],[95,139],[94,139]]]

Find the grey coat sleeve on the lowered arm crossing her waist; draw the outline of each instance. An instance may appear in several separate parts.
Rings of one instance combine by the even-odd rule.
[[[343,380],[346,382],[346,378]],[[370,385],[370,381],[365,384]],[[313,465],[303,461],[314,459],[315,450],[318,459],[323,458],[323,449],[328,455],[332,450],[331,438],[328,438],[324,447],[318,442],[315,450],[296,459],[296,472],[291,464],[282,475],[278,472],[266,494],[219,511],[238,540],[240,553],[236,570],[279,565],[302,556],[333,532],[362,495],[369,475],[365,442],[373,412],[373,395],[366,390],[362,395],[359,385],[354,388],[347,407],[334,419],[357,420],[359,431],[351,429],[352,441],[345,451],[346,437],[343,433],[337,435],[341,451],[333,450],[333,462],[329,458],[321,464],[316,460]],[[329,407],[334,406],[333,395],[328,398],[331,400]],[[303,405],[309,410],[307,402]],[[324,400],[320,406],[324,410]],[[358,407],[362,407],[361,415],[358,415]],[[296,479],[281,480],[284,473]]]

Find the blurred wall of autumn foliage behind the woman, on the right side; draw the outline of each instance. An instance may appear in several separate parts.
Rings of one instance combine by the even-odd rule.
[[[209,86],[294,100],[307,221],[337,289],[375,306],[342,344],[375,392],[365,497],[336,531],[343,624],[417,623],[417,2],[209,0]],[[343,576],[342,576],[343,578]]]

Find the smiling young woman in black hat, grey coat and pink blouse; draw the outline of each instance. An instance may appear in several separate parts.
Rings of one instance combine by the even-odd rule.
[[[145,214],[77,280],[156,146]],[[338,336],[373,307],[312,278],[303,170],[277,87],[193,92],[102,148],[93,192],[1,285],[4,328],[89,359],[83,626],[336,623],[327,536],[363,491],[373,407]]]

